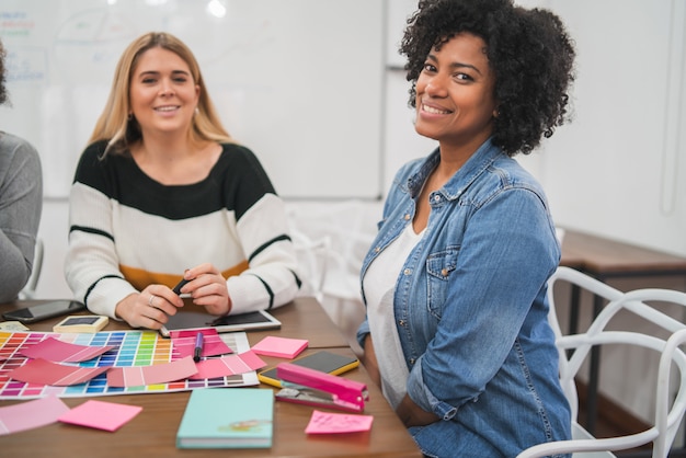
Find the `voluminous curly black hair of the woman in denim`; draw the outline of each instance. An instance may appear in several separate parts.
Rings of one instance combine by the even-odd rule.
[[[508,156],[527,154],[541,136],[550,137],[569,121],[574,44],[556,14],[512,0],[420,0],[400,45],[412,82],[410,106],[416,106],[416,80],[430,50],[460,33],[484,41],[495,75],[494,145]]]

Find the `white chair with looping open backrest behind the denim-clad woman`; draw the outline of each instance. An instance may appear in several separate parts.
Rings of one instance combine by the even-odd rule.
[[[553,286],[556,282],[569,282],[598,295],[608,304],[593,320],[584,333],[562,335],[554,310]],[[670,453],[675,435],[686,411],[686,355],[679,345],[686,343],[686,324],[663,313],[648,301],[670,302],[685,307],[686,294],[667,289],[637,289],[621,293],[585,274],[569,267],[559,267],[550,278],[550,323],[556,332],[560,355],[560,380],[572,408],[572,439],[540,444],[522,451],[517,458],[545,457],[554,454],[573,454],[573,457],[614,457],[611,451],[625,450],[652,443],[652,457],[664,458]],[[641,320],[653,323],[660,332],[645,333],[610,330],[608,322],[619,312],[630,312]],[[616,327],[616,323],[614,323]],[[651,325],[652,327],[652,325]],[[665,335],[664,337],[658,336]],[[590,356],[594,345],[626,344],[658,352],[655,409],[652,426],[645,431],[608,438],[595,438],[576,422],[579,401],[574,377]],[[568,352],[573,350],[573,352]],[[676,370],[673,370],[673,369]],[[672,398],[670,387],[675,389]]]

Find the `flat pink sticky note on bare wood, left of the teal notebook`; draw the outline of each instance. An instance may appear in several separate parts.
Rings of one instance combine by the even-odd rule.
[[[130,421],[142,408],[104,401],[85,401],[62,414],[60,422],[98,430],[116,431]]]

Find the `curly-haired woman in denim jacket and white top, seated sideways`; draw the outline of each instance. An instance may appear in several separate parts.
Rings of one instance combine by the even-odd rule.
[[[510,0],[420,1],[400,48],[415,129],[361,273],[363,360],[430,457],[513,457],[570,436],[548,324],[560,248],[513,157],[568,118],[574,48]]]

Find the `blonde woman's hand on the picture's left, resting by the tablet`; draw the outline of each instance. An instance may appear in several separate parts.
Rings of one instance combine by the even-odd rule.
[[[118,318],[133,328],[158,330],[167,322],[167,317],[176,314],[183,307],[183,299],[164,285],[149,285],[140,293],[122,299],[115,309]]]

